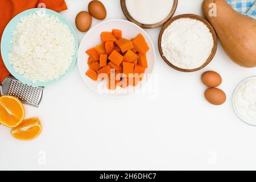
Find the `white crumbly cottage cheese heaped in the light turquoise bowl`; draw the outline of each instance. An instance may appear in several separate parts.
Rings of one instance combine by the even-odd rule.
[[[75,54],[75,38],[68,27],[44,11],[21,18],[11,43],[10,64],[32,82],[64,75]]]

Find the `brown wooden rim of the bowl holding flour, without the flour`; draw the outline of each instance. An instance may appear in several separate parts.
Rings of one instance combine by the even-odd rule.
[[[164,56],[163,54],[163,51],[162,51],[162,46],[161,46],[161,42],[162,42],[162,35],[163,35],[163,32],[164,30],[166,30],[166,28],[168,26],[170,26],[170,24],[172,22],[174,22],[175,20],[177,19],[180,19],[180,18],[192,18],[192,19],[196,19],[196,20],[199,20],[201,22],[203,22],[210,30],[210,32],[212,33],[212,36],[213,36],[213,48],[212,48],[212,52],[210,53],[210,56],[208,57],[208,59],[205,61],[205,63],[203,65],[201,65],[201,67],[199,68],[195,68],[195,69],[182,69],[182,68],[178,68],[178,67],[175,67],[175,65],[171,64],[167,59],[166,57]],[[177,71],[181,71],[181,72],[195,72],[195,71],[199,71],[200,69],[203,69],[204,67],[206,67],[210,61],[212,61],[215,53],[216,53],[216,50],[217,50],[217,35],[216,35],[216,32],[214,31],[214,28],[212,27],[212,25],[207,21],[205,20],[204,18],[202,18],[201,16],[198,16],[198,15],[194,15],[194,14],[183,14],[183,15],[178,15],[178,16],[175,16],[174,18],[171,18],[170,20],[168,20],[168,22],[166,22],[166,24],[164,24],[162,30],[160,31],[160,34],[159,34],[159,38],[158,38],[158,49],[159,49],[159,53],[160,55],[162,56],[163,60],[172,68],[176,69]]]

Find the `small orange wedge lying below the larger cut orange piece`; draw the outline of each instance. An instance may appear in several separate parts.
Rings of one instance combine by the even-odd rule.
[[[11,130],[11,135],[19,140],[32,140],[38,137],[41,130],[42,126],[38,118],[27,118]]]

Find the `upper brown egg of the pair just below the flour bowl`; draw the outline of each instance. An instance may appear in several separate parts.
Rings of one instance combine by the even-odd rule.
[[[214,71],[204,72],[201,76],[201,80],[205,86],[216,87],[221,84],[222,78],[220,74]]]

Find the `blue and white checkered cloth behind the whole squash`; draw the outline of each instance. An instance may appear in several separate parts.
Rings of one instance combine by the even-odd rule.
[[[234,10],[256,19],[256,0],[226,0]]]

